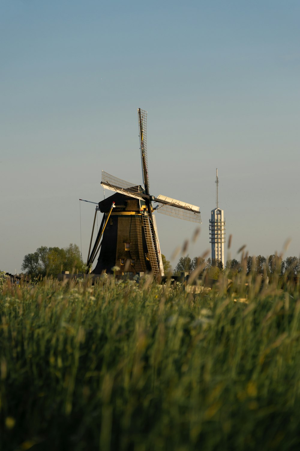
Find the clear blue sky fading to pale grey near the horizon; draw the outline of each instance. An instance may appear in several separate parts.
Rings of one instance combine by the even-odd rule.
[[[300,2],[0,0],[0,270],[38,247],[86,260],[101,170],[200,207],[215,170],[233,258],[300,254]],[[112,192],[105,191],[106,197]],[[170,259],[195,224],[156,215]],[[99,216],[99,223],[101,217]],[[171,261],[175,267],[178,258]]]

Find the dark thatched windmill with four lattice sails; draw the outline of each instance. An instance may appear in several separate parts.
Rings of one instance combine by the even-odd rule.
[[[139,141],[142,159],[143,184],[133,184],[102,171],[101,185],[115,193],[99,202],[94,216],[87,259],[91,267],[99,250],[93,274],[112,272],[134,275],[152,271],[163,276],[161,250],[153,211],[187,221],[201,223],[199,207],[176,199],[150,194],[147,158],[147,111],[138,109]],[[153,207],[152,202],[157,205]],[[97,212],[103,219],[91,248]],[[102,238],[102,241],[101,241]]]

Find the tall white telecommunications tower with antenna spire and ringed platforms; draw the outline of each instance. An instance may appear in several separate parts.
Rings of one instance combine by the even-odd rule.
[[[219,198],[218,198],[218,169],[217,177],[215,179],[216,184],[216,208],[211,210],[210,218],[210,243],[211,243],[211,259],[215,261],[220,261],[225,265],[224,258],[224,243],[225,243],[225,218],[224,210],[219,208]]]

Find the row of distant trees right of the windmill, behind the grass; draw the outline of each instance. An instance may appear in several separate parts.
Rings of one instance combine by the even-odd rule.
[[[201,257],[190,258],[189,256],[181,257],[175,267],[174,274],[180,275],[180,272],[188,272],[191,274],[197,267],[201,266],[201,272],[208,272],[208,276],[217,279],[220,272],[225,271],[229,278],[236,276],[243,270],[246,274],[256,273],[272,276],[273,274],[284,275],[287,277],[295,277],[300,275],[300,259],[298,257],[287,257],[282,259],[281,256],[273,254],[268,258],[263,255],[257,257],[248,256],[239,262],[236,258],[227,260],[225,268],[221,261],[215,261],[211,258],[205,260]]]

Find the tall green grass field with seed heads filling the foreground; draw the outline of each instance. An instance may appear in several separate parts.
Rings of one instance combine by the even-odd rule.
[[[4,285],[0,449],[300,449],[299,289],[243,282]]]

